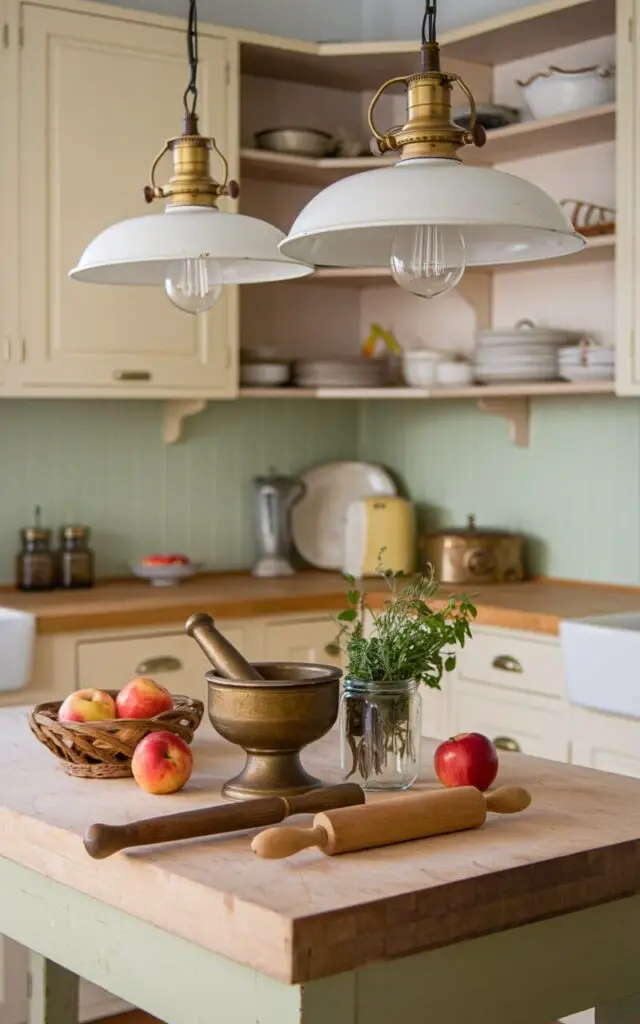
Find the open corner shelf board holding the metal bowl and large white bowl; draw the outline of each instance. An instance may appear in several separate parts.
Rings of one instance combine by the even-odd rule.
[[[487,166],[509,160],[525,160],[560,153],[581,145],[610,141],[615,137],[615,103],[602,103],[561,117],[523,121],[488,132],[481,150],[468,146],[465,163]],[[392,166],[395,157],[294,157],[266,150],[241,150],[241,171],[245,177],[323,187],[359,171]]]

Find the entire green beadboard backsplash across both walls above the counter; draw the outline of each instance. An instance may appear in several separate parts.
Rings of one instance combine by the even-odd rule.
[[[212,402],[162,440],[161,402],[0,402],[0,582],[13,578],[17,530],[40,504],[46,523],[93,527],[100,575],[156,550],[213,568],[253,558],[251,478],[325,459],[394,470],[430,526],[525,532],[531,569],[640,583],[640,401],[538,399],[528,449],[501,417],[467,401]]]

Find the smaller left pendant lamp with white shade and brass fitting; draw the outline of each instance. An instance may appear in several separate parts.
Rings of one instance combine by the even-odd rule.
[[[279,251],[284,233],[271,224],[217,209],[221,196],[237,199],[236,181],[215,139],[198,131],[198,9],[189,0],[186,34],[189,82],[184,92],[182,134],[170,138],[152,167],[144,199],[167,201],[165,212],[113,224],[86,248],[70,276],[103,285],[164,286],[171,301],[190,313],[204,312],[223,285],[303,278],[312,267]],[[222,162],[222,180],[211,176],[209,156]],[[156,184],[156,169],[165,154],[173,160],[173,176]]]

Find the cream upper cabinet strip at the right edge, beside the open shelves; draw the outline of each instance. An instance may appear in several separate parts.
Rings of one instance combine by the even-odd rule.
[[[640,2],[616,0],[616,390],[640,394]]]

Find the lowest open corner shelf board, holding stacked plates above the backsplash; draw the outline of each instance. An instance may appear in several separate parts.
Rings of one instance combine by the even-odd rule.
[[[546,384],[476,384],[463,388],[377,387],[377,388],[297,388],[297,387],[245,387],[241,398],[373,398],[385,399],[453,399],[453,398],[535,398],[578,394],[613,394],[613,381],[590,381],[571,384],[567,381],[550,381]]]

